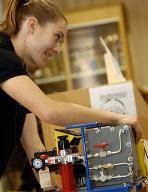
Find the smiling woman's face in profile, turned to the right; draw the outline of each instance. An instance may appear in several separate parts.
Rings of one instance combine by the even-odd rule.
[[[26,39],[26,59],[34,68],[44,67],[48,59],[60,52],[67,33],[67,24],[60,20],[44,26],[36,24]]]

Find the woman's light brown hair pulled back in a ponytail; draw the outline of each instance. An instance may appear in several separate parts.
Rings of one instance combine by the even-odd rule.
[[[12,37],[19,32],[27,16],[36,17],[40,25],[58,20],[67,23],[63,12],[50,0],[10,0],[4,21],[0,23],[0,31]]]

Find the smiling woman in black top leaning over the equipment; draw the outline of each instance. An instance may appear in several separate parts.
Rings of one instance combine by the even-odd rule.
[[[61,126],[92,121],[130,124],[140,138],[137,119],[54,101],[28,77],[26,68],[43,67],[49,57],[60,52],[67,21],[57,6],[49,0],[10,0],[0,31],[0,177],[19,140],[29,160],[35,151],[45,149],[35,115]]]

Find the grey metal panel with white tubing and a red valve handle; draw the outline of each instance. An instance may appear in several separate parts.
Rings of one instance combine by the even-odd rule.
[[[140,178],[130,126],[88,129],[86,145],[93,188],[134,183]]]

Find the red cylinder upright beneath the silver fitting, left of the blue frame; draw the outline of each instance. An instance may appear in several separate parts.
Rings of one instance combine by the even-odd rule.
[[[75,192],[75,179],[72,163],[60,164],[63,192]]]

